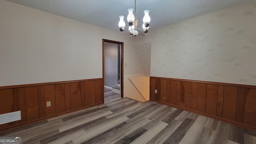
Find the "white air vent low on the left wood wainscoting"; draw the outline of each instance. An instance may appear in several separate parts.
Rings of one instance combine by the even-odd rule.
[[[20,111],[0,114],[0,124],[21,120]]]

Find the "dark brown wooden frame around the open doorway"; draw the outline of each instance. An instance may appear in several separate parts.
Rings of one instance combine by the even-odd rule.
[[[102,39],[102,98],[104,102],[104,42],[110,42],[114,44],[121,44],[121,98],[124,98],[124,42],[117,42],[114,40]]]

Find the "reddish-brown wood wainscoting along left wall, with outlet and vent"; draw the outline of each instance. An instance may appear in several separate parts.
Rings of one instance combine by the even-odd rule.
[[[0,114],[20,110],[21,120],[1,124],[0,131],[103,104],[103,86],[102,78],[2,86]]]

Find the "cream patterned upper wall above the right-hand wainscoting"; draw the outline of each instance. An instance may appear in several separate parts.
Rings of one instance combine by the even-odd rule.
[[[256,2],[149,30],[150,76],[256,85]]]

